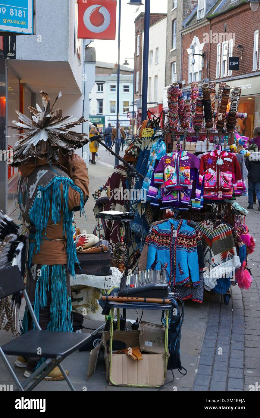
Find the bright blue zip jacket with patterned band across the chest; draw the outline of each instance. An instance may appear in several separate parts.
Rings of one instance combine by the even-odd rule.
[[[152,225],[146,238],[148,247],[147,269],[160,270],[161,262],[167,263],[167,275],[171,285],[181,286],[190,279],[199,285],[199,266],[196,231],[186,220],[168,219]]]

